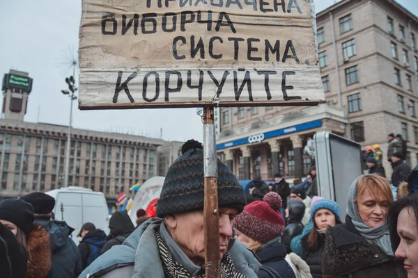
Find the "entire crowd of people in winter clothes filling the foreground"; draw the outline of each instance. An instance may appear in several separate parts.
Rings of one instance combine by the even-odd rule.
[[[418,193],[394,197],[387,179],[363,174],[343,214],[339,204],[310,197],[304,187],[291,190],[280,174],[246,196],[224,163],[217,161],[217,169],[220,277],[418,277]],[[109,236],[86,223],[78,250],[68,238],[72,230],[52,218],[53,198],[33,193],[0,202],[1,273],[205,277],[203,180],[203,147],[189,140],[167,172],[157,218],[139,211],[135,228],[125,212],[115,213]]]

